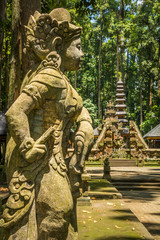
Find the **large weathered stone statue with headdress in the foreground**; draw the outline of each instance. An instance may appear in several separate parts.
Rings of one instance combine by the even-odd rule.
[[[76,198],[93,142],[92,121],[65,71],[80,67],[81,28],[67,10],[35,12],[26,26],[32,68],[6,113],[10,196],[0,220],[4,240],[73,240]],[[67,155],[70,129],[75,147]]]

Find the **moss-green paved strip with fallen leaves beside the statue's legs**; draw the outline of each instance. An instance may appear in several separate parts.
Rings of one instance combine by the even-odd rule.
[[[122,199],[92,200],[78,206],[80,240],[153,240]]]

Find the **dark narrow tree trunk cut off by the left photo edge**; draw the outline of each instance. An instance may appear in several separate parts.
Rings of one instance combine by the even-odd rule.
[[[6,0],[0,1],[0,112],[2,111],[2,61],[3,61],[3,21],[6,19]]]

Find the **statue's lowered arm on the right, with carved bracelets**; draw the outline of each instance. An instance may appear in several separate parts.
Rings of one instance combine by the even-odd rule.
[[[75,149],[80,167],[84,167],[84,162],[92,147],[93,140],[92,120],[88,110],[83,107],[77,119],[77,132],[75,137]]]

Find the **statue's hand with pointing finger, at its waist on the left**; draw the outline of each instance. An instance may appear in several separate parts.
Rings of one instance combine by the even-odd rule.
[[[47,148],[45,144],[34,142],[32,138],[26,138],[20,146],[20,152],[24,159],[32,163],[39,160],[46,153]]]

